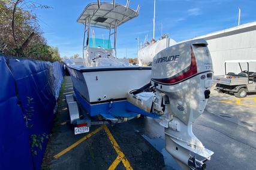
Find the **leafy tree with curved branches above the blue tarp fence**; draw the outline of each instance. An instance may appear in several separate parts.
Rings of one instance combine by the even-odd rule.
[[[52,62],[61,60],[58,47],[47,45],[43,31],[40,29],[35,14],[40,8],[51,7],[28,0],[0,1],[1,51],[6,55],[18,55],[35,60]]]

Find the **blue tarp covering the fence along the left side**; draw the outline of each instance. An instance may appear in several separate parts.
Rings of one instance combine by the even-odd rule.
[[[47,139],[42,150],[32,159],[31,135],[50,134],[53,109],[63,80],[62,65],[58,62],[15,60],[0,56],[0,169],[40,169]],[[18,93],[16,93],[18,89]],[[20,98],[21,106],[19,106]],[[28,98],[33,98],[28,104]],[[29,107],[33,107],[29,109]],[[23,110],[23,112],[22,112]],[[23,115],[34,110],[26,126]]]

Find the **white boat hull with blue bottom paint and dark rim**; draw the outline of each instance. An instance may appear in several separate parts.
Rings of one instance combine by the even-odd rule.
[[[127,93],[149,84],[151,67],[68,67],[74,92],[91,116],[108,114],[134,117],[126,110]],[[109,103],[113,101],[112,109]]]

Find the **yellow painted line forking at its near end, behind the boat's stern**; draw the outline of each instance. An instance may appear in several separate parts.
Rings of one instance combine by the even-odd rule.
[[[110,142],[113,144],[114,149],[116,150],[116,153],[118,153],[118,157],[116,157],[116,160],[112,163],[112,165],[109,167],[109,170],[115,169],[116,166],[118,166],[118,163],[122,160],[122,163],[124,164],[126,169],[132,170],[131,165],[129,164],[128,160],[125,157],[125,154],[121,152],[120,147],[118,146],[118,143],[116,143],[115,138],[110,133],[109,128],[107,128],[106,125],[103,125],[103,128],[109,137]]]

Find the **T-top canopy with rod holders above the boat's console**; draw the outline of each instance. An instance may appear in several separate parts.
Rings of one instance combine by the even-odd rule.
[[[110,29],[111,25],[112,27],[115,25],[115,21],[117,21],[117,26],[120,26],[138,16],[140,5],[137,11],[127,7],[127,5],[117,3],[114,5],[113,2],[100,1],[88,4],[77,19],[77,23],[85,23],[88,17],[91,17],[91,26]]]

